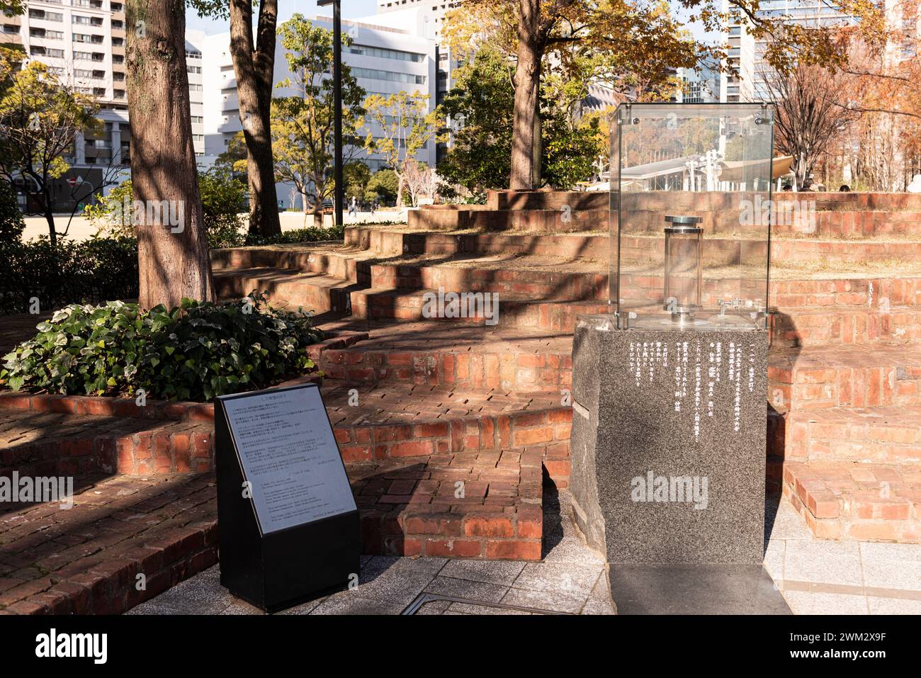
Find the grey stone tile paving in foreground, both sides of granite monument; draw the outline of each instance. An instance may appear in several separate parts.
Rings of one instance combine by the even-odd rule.
[[[362,556],[360,583],[283,614],[400,614],[423,592],[568,614],[615,614],[604,564],[579,539],[568,496],[546,497],[541,563]],[[557,512],[556,507],[559,510]],[[921,614],[921,545],[816,539],[787,500],[768,500],[764,567],[794,614]],[[261,614],[218,567],[128,614]],[[433,601],[416,614],[530,614]]]

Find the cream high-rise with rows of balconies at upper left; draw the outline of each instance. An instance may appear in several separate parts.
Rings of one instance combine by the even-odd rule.
[[[89,187],[127,176],[131,125],[124,63],[126,30],[124,3],[115,0],[29,0],[21,16],[0,15],[0,44],[21,47],[26,58],[47,64],[62,82],[99,102],[102,129],[76,139],[73,152],[65,158],[71,169],[52,186],[55,210],[69,212],[75,198],[82,202]],[[204,155],[202,54],[187,42],[186,57],[192,134],[196,134],[196,153]],[[69,179],[77,180],[75,187],[67,183]],[[25,200],[20,195],[24,208],[35,208]]]

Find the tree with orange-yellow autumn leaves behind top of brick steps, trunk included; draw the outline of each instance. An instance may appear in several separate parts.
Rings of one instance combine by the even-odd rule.
[[[505,46],[515,58],[511,188],[540,183],[540,88],[546,69],[583,64],[585,76],[634,74],[642,79],[665,77],[668,68],[724,63],[727,45],[694,40],[683,29],[693,22],[715,31],[747,21],[752,35],[768,42],[767,62],[780,69],[802,58],[843,62],[831,29],[784,29],[778,18],[757,15],[758,0],[727,0],[725,10],[720,0],[682,0],[680,5],[682,18],[662,0],[465,0],[449,14],[449,41],[473,49],[488,41]],[[838,0],[835,5],[863,18],[861,30],[868,36],[878,36],[882,12],[873,0]],[[588,72],[585,64],[591,66]]]

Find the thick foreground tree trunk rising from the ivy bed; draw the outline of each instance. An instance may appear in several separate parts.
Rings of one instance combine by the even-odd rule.
[[[127,21],[138,301],[144,309],[173,308],[182,298],[213,301],[189,115],[185,3],[131,0]]]

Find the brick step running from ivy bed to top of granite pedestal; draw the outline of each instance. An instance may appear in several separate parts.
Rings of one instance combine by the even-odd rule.
[[[323,325],[324,329],[331,326],[360,327],[369,338],[322,354],[320,366],[330,380],[363,385],[403,381],[517,392],[568,389],[572,384],[572,337],[568,334],[437,321]]]

